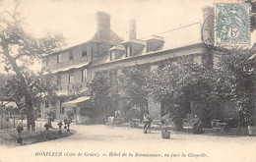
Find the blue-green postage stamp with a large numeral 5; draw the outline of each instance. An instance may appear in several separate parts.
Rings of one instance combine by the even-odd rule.
[[[215,44],[250,45],[250,4],[215,5]]]

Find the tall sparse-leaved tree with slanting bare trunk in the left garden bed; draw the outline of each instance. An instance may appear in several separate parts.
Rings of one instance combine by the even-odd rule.
[[[64,45],[62,35],[46,34],[41,38],[36,38],[28,33],[23,26],[19,13],[21,2],[15,0],[15,7],[12,12],[4,10],[1,13],[0,21],[0,54],[5,59],[5,70],[13,71],[17,81],[20,83],[20,98],[25,98],[25,105],[28,109],[28,127],[32,125],[34,130],[34,118],[32,109],[33,94],[30,90],[30,72],[28,68],[35,59],[43,55],[56,52]]]

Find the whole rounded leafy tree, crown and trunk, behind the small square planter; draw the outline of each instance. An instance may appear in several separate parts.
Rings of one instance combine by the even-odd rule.
[[[176,61],[166,60],[148,80],[149,96],[155,102],[163,103],[174,123],[180,123],[189,112],[190,102],[211,100],[211,82],[211,70],[189,56]]]

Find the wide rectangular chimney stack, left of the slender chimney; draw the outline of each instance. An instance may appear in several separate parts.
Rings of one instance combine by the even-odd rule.
[[[110,38],[110,15],[104,12],[96,13],[96,33],[99,40]]]

